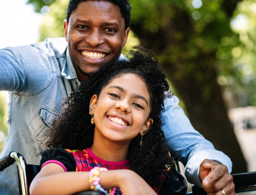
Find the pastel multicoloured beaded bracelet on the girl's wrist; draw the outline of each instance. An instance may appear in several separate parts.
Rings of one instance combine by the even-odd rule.
[[[90,173],[89,173],[90,188],[91,190],[100,191],[106,195],[109,195],[109,192],[107,190],[104,190],[104,188],[100,186],[99,175],[101,171],[107,171],[107,169],[95,166],[92,170],[90,170]]]

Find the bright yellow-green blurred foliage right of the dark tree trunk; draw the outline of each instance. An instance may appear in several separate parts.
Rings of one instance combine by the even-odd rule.
[[[237,3],[230,26],[234,33],[222,37],[216,54],[219,84],[238,98],[246,95],[237,106],[256,105],[256,1]]]

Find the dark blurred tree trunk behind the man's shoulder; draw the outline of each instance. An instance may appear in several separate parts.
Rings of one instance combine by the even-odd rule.
[[[216,149],[231,158],[233,174],[247,172],[246,161],[227,116],[220,85],[216,82],[216,49],[205,52],[194,46],[197,54],[189,58],[187,53],[191,51],[186,43],[195,34],[194,26],[190,24],[185,10],[172,9],[175,10],[175,16],[165,18],[158,31],[145,30],[143,19],[140,23],[132,23],[131,29],[141,44],[152,49],[160,58],[168,79],[185,102],[194,128],[211,141]],[[161,13],[161,10],[158,11]],[[215,27],[209,25],[204,31],[211,33]],[[224,32],[222,36],[225,36]]]

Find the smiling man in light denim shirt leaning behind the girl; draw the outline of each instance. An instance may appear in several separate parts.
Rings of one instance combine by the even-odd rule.
[[[64,20],[67,44],[63,38],[48,38],[0,50],[0,90],[10,91],[9,135],[2,155],[17,151],[27,163],[39,163],[35,154],[45,149],[43,135],[62,100],[100,64],[125,58],[121,51],[129,23],[126,0],[70,0]],[[208,194],[234,194],[230,159],[194,130],[177,97],[165,101],[163,115],[171,154],[186,165],[187,179],[203,183]],[[0,173],[0,194],[17,194],[15,166]]]

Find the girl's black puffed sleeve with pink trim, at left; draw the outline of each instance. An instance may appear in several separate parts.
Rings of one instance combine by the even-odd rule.
[[[63,148],[54,148],[47,151],[44,151],[42,154],[42,159],[40,165],[49,160],[60,161],[66,167],[67,171],[76,171],[76,160],[74,159],[73,154],[68,153]]]

